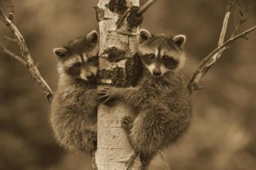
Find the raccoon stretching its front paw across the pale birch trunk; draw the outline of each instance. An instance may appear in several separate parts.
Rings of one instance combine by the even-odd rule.
[[[158,150],[182,136],[191,120],[191,101],[182,78],[185,40],[183,35],[168,37],[141,30],[138,52],[144,69],[138,85],[105,88],[98,93],[104,103],[118,97],[136,108],[134,120],[124,117],[122,127],[140,154],[143,169]]]

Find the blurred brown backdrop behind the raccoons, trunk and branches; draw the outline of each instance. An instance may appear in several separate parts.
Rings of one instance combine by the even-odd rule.
[[[146,1],[141,1],[144,4]],[[22,32],[38,68],[56,90],[58,74],[52,48],[98,29],[95,0],[14,1],[15,24]],[[256,1],[242,30],[256,24]],[[185,73],[188,81],[200,60],[216,48],[227,0],[157,1],[144,15],[141,27],[153,32],[187,35]],[[3,1],[0,8],[6,12]],[[234,15],[232,15],[234,17]],[[230,20],[228,35],[234,29]],[[12,34],[0,24],[0,42]],[[193,122],[188,134],[164,150],[172,169],[255,169],[256,167],[256,32],[239,39],[193,94]],[[91,169],[88,155],[65,152],[56,145],[49,124],[49,103],[19,62],[0,52],[0,169]],[[150,169],[164,169],[159,157]]]

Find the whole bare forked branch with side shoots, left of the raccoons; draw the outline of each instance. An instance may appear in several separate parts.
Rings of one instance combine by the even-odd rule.
[[[12,5],[12,2],[10,0],[8,0],[6,2],[8,3],[8,6],[10,6],[9,7],[10,8],[9,17],[10,17],[10,14],[11,15],[12,15],[12,13],[14,14],[13,5]],[[12,17],[11,17],[12,20],[13,20],[13,16],[14,15],[12,15]],[[6,17],[3,14],[2,11],[0,11],[0,20],[7,27],[9,27],[9,29],[14,34],[15,42],[20,46],[20,52],[21,52],[21,55],[22,55],[23,59],[21,57],[15,55],[14,53],[10,52],[10,50],[6,49],[2,45],[0,45],[0,50],[2,50],[4,53],[10,55],[10,57],[12,57],[13,59],[18,60],[20,63],[22,63],[23,66],[26,67],[26,69],[29,70],[29,72],[31,74],[31,77],[42,87],[42,89],[44,91],[44,95],[47,98],[47,101],[51,102],[51,100],[52,100],[52,90],[47,85],[44,78],[42,78],[40,72],[38,71],[35,62],[33,61],[32,57],[29,53],[29,50],[26,46],[26,43],[24,41],[24,38],[23,38],[22,34],[20,34],[19,30],[13,24],[12,20],[10,20],[8,17]]]

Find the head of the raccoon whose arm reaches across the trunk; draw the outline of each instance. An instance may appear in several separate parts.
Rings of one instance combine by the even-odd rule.
[[[184,35],[169,38],[164,35],[154,36],[146,30],[140,31],[139,54],[145,67],[154,76],[162,76],[169,71],[177,72],[184,66],[185,54],[182,46]]]

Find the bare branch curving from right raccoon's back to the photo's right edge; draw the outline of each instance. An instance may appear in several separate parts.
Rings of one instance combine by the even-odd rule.
[[[212,64],[216,62],[216,60],[212,60],[212,56],[214,56],[216,53],[220,52],[223,49],[227,49],[227,46],[232,43],[232,41],[235,41],[238,38],[246,38],[246,35],[249,32],[252,32],[256,29],[256,26],[242,32],[241,34],[234,36],[233,38],[228,39],[225,43],[223,43],[221,46],[218,46],[215,50],[213,50],[205,59],[202,60],[202,62],[199,64],[198,69],[196,69],[195,73],[193,74],[191,80],[188,83],[188,90],[189,92],[193,92],[194,90],[202,89],[201,86],[198,85],[199,80],[204,76],[205,73],[210,69]],[[211,60],[211,63],[209,62]]]

